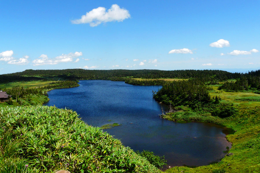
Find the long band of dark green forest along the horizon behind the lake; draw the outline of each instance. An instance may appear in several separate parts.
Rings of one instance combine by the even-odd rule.
[[[26,80],[42,80],[52,77],[63,79],[102,79],[102,80],[120,80],[120,78],[199,78],[203,81],[228,80],[240,78],[240,73],[230,73],[222,70],[85,70],[85,69],[64,69],[64,70],[32,70],[23,72],[0,75],[0,83]]]

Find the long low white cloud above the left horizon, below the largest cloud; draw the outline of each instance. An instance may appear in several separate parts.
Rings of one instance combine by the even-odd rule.
[[[55,57],[54,59],[49,59],[47,55],[42,54],[38,59],[32,61],[34,66],[37,65],[55,65],[58,63],[71,62],[73,58],[82,56],[82,52],[75,52],[69,54],[62,54],[60,56]],[[77,61],[77,60],[76,60]]]

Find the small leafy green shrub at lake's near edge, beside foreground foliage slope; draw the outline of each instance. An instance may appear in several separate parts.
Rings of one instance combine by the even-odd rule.
[[[154,155],[152,151],[144,150],[140,153],[140,151],[136,151],[138,155],[146,158],[151,164],[153,164],[156,168],[161,168],[164,165],[167,165],[167,160],[164,159],[164,156],[160,157]]]

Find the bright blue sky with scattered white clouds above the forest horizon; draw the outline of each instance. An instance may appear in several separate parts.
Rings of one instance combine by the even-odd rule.
[[[0,6],[0,74],[260,69],[260,1],[0,1]]]

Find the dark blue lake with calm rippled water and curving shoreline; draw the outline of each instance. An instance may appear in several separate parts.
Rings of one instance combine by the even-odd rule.
[[[133,150],[164,155],[168,166],[202,166],[224,157],[226,128],[210,123],[176,123],[161,119],[161,104],[152,91],[161,86],[135,86],[110,80],[81,80],[80,86],[48,92],[44,105],[77,111],[88,125],[121,124],[104,129]],[[165,106],[164,106],[165,107]]]

